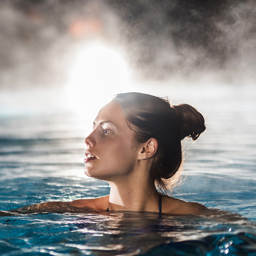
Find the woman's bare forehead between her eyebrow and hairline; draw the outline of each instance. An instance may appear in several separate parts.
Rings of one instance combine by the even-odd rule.
[[[117,126],[127,126],[123,112],[116,102],[109,102],[101,110],[99,110],[98,116],[95,118],[95,123],[100,123],[102,121],[111,121]]]

